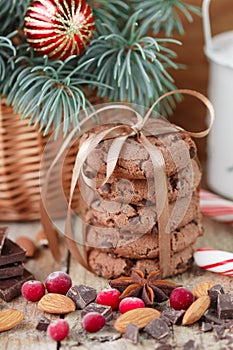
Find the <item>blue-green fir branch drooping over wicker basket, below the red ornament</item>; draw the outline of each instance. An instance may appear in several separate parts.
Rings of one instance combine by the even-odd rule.
[[[39,125],[44,134],[52,125],[58,133],[63,123],[66,135],[72,126],[79,125],[79,112],[92,107],[83,87],[100,85],[91,74],[84,72],[88,63],[80,64],[74,56],[64,62],[52,61],[46,56],[21,56],[4,85],[7,103],[24,119],[29,118],[30,125]]]

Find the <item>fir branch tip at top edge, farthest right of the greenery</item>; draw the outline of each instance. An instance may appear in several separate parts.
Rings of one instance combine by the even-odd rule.
[[[153,32],[159,33],[161,30],[170,37],[175,31],[184,34],[183,24],[180,14],[186,17],[189,22],[193,21],[192,14],[199,15],[199,7],[185,3],[181,0],[131,0],[134,10],[141,9],[140,20],[153,24]],[[154,20],[153,15],[157,13],[159,17]]]

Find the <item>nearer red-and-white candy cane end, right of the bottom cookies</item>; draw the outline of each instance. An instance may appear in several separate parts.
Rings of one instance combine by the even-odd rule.
[[[213,248],[200,248],[194,253],[194,260],[202,269],[233,276],[233,253]]]

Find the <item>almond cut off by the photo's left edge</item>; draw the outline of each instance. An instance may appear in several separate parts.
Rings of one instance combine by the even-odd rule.
[[[14,328],[24,319],[24,313],[17,309],[8,309],[0,312],[0,332]]]

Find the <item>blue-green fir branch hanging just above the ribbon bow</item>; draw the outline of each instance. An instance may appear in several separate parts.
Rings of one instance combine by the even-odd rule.
[[[108,35],[94,39],[81,62],[89,60],[85,69],[113,87],[98,89],[99,96],[150,106],[162,93],[175,88],[167,68],[177,69],[173,62],[176,54],[165,44],[179,42],[144,35],[146,27],[138,26],[138,15],[134,13],[122,31],[109,29]],[[169,105],[167,109],[169,112]]]

